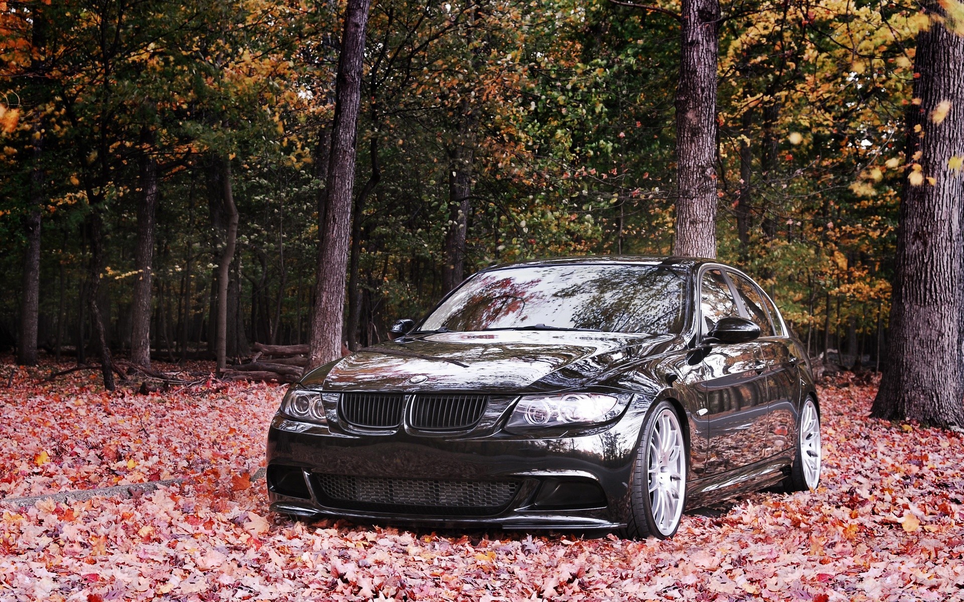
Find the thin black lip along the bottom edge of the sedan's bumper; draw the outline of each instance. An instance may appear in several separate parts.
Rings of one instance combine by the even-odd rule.
[[[331,517],[347,518],[357,522],[405,524],[413,526],[445,528],[497,528],[513,530],[604,530],[614,531],[626,527],[625,523],[613,523],[599,518],[568,516],[559,513],[533,512],[525,515],[480,516],[453,518],[450,516],[411,516],[381,514],[376,512],[352,512],[350,510],[326,510],[310,502],[278,501],[271,504],[271,510],[308,520]]]

